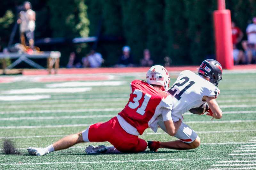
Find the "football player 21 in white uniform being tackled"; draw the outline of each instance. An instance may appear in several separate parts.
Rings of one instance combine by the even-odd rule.
[[[203,61],[198,69],[198,75],[192,71],[182,71],[177,81],[168,90],[172,94],[172,120],[173,122],[183,120],[182,114],[207,102],[210,107],[209,114],[215,119],[222,117],[222,111],[216,102],[220,93],[217,88],[222,79],[222,67],[220,63],[213,59]],[[158,125],[166,132],[161,116],[158,118]],[[151,151],[158,148],[170,149],[194,149],[200,145],[200,138],[196,132],[184,122],[181,123],[179,130],[174,135],[179,140],[170,142],[148,141]]]

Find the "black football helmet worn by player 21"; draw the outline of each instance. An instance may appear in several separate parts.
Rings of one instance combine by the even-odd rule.
[[[208,77],[210,82],[218,87],[220,80],[222,79],[222,67],[220,63],[213,59],[207,59],[202,62],[198,69],[198,74]]]

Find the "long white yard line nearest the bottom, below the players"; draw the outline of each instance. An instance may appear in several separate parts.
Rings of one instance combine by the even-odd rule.
[[[2,166],[22,165],[49,165],[49,164],[101,164],[101,163],[129,163],[129,162],[159,162],[159,161],[182,161],[187,159],[142,159],[142,160],[113,160],[113,161],[88,161],[88,162],[44,162],[44,163],[1,163]]]

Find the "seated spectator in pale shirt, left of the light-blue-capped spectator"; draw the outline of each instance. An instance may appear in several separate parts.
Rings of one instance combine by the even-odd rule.
[[[96,53],[93,49],[82,58],[83,67],[91,67],[96,68],[100,67],[103,63],[102,55],[100,53]]]

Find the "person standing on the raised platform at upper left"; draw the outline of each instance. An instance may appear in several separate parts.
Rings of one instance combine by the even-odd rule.
[[[17,23],[20,24],[20,40],[25,43],[26,35],[29,47],[31,49],[34,48],[34,31],[35,31],[35,20],[36,20],[36,12],[31,10],[31,3],[26,1],[24,2],[24,10],[20,11],[20,18],[17,20]]]

